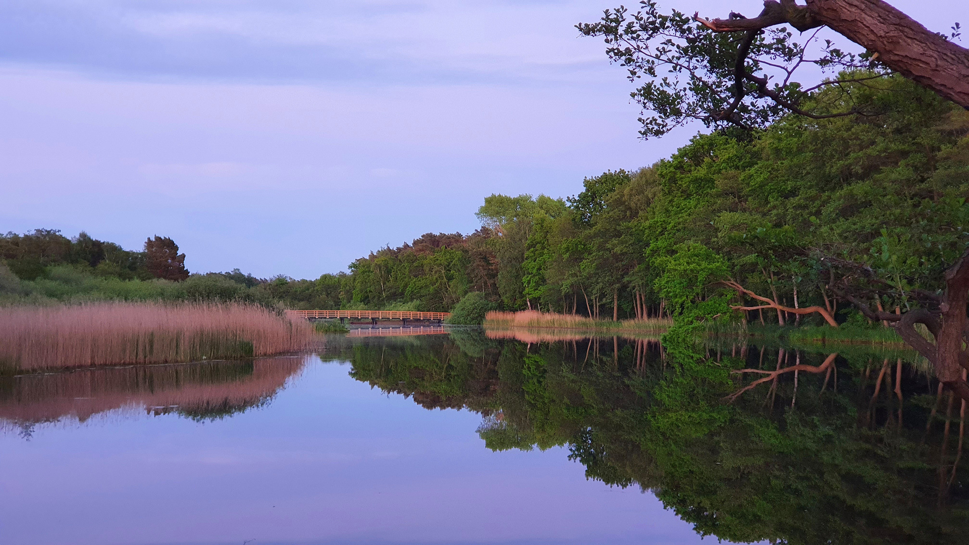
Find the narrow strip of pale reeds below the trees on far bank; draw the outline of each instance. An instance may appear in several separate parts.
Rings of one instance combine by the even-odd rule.
[[[609,335],[660,335],[672,327],[671,318],[649,318],[644,320],[594,320],[575,314],[556,314],[538,310],[518,312],[491,311],[485,314],[485,331],[507,330],[512,328],[583,330],[596,334]]]

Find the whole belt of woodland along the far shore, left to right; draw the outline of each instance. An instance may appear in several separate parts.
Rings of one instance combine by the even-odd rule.
[[[905,309],[912,290],[941,289],[942,272],[969,242],[969,113],[897,77],[856,86],[844,96],[884,113],[789,114],[763,131],[698,135],[652,166],[586,178],[564,200],[492,195],[478,212],[479,231],[385,247],[345,273],[178,276],[177,267],[152,268],[147,251],[42,230],[0,238],[17,277],[7,273],[2,289],[21,299],[414,310],[449,310],[479,292],[502,309],[623,319],[675,314],[712,297],[752,305],[749,294],[737,295],[740,286],[779,305],[817,305],[843,322],[850,305],[838,294],[850,296],[864,272],[891,288],[869,303]],[[836,102],[824,93],[835,91],[818,100]],[[167,259],[177,261],[173,252]],[[772,308],[735,319],[824,323]]]

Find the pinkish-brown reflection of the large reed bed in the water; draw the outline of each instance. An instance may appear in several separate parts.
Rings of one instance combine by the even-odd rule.
[[[114,409],[212,420],[260,406],[302,369],[301,358],[79,369],[0,378],[0,421],[21,430]],[[29,436],[29,433],[28,433]]]

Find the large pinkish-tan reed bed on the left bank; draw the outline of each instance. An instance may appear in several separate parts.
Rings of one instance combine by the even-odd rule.
[[[6,372],[269,356],[312,339],[308,322],[244,304],[0,308],[0,370]]]

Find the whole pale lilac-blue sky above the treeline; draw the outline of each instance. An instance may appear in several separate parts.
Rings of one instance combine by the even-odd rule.
[[[470,233],[492,193],[575,195],[698,130],[638,139],[633,85],[575,28],[618,4],[4,0],[0,232],[168,236],[193,272],[315,278]],[[891,4],[969,24],[961,0]]]

